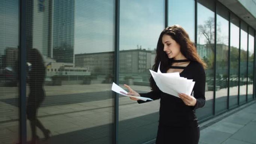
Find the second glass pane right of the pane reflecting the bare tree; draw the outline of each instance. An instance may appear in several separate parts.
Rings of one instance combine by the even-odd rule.
[[[234,107],[238,105],[239,19],[231,14],[230,21],[229,107]]]

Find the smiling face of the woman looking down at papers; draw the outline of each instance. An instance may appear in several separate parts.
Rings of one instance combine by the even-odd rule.
[[[162,43],[164,45],[164,52],[168,58],[174,58],[180,54],[180,45],[171,38],[171,36],[164,34],[162,37]]]

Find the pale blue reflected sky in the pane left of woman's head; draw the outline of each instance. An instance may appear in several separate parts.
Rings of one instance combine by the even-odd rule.
[[[120,50],[156,48],[164,29],[164,0],[120,2]]]

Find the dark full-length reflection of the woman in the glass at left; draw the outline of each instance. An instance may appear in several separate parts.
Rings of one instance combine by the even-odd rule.
[[[28,71],[27,82],[30,88],[30,93],[27,100],[27,118],[30,121],[32,138],[30,144],[39,143],[39,136],[36,135],[36,127],[44,134],[45,140],[48,140],[51,132],[46,129],[43,124],[37,119],[37,110],[45,99],[45,74],[46,68],[43,62],[42,55],[37,49],[28,49],[27,62],[31,64]]]

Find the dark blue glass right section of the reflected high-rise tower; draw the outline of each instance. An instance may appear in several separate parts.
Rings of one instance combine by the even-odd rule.
[[[57,62],[74,62],[74,0],[53,0],[52,58]]]

